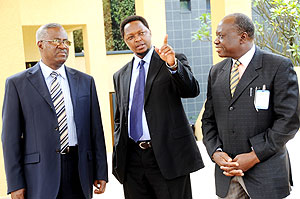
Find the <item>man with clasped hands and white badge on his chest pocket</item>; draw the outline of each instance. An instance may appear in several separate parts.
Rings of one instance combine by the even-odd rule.
[[[219,23],[220,57],[209,73],[203,142],[216,163],[219,198],[282,199],[290,194],[286,143],[298,128],[299,90],[292,62],[254,45],[254,25],[241,13]]]

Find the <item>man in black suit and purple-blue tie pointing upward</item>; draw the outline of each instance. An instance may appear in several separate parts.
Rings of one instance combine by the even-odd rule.
[[[191,199],[189,174],[204,165],[181,98],[196,97],[198,82],[167,36],[154,49],[143,17],[120,31],[134,58],[114,74],[113,174],[126,199]]]

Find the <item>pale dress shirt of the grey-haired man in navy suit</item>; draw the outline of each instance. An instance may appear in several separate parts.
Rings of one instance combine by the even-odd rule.
[[[78,144],[77,140],[77,134],[76,134],[76,125],[74,121],[74,114],[73,114],[73,104],[71,100],[71,92],[69,87],[68,78],[66,75],[65,65],[63,64],[59,69],[53,70],[49,66],[45,65],[42,60],[39,62],[41,66],[41,70],[44,76],[44,79],[46,81],[49,93],[50,93],[50,86],[52,77],[50,74],[52,71],[55,71],[59,74],[57,76],[57,79],[60,83],[60,87],[64,96],[65,101],[65,108],[66,108],[66,114],[67,114],[67,123],[68,123],[68,134],[69,134],[69,146],[75,146]]]

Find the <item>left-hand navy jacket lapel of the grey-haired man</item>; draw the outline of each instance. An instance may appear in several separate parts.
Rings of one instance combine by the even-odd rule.
[[[51,109],[55,110],[39,63],[34,65],[32,68],[28,69],[26,76],[27,76],[27,79],[29,80],[29,82],[32,84],[32,86],[38,91],[38,93],[50,105]]]

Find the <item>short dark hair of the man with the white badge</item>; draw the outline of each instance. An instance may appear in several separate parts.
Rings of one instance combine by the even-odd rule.
[[[238,28],[238,31],[240,33],[246,32],[248,36],[253,39],[254,38],[254,31],[255,27],[252,22],[252,20],[245,14],[243,13],[234,13],[232,16],[235,17],[235,25]]]

